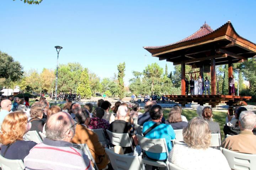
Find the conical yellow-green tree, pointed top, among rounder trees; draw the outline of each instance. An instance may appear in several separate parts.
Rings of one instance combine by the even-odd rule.
[[[89,76],[88,76],[87,68],[85,68],[82,71],[79,85],[77,88],[77,93],[80,93],[81,98],[90,98],[91,97],[91,88],[89,85]]]

